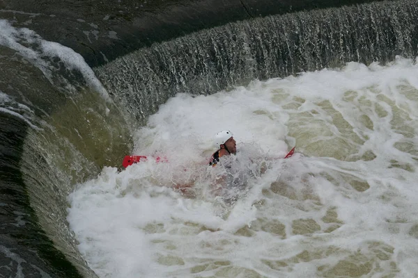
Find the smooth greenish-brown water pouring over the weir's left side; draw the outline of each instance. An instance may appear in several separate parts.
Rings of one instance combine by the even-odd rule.
[[[1,204],[14,211],[3,220],[10,233],[1,245],[10,265],[4,273],[95,277],[68,229],[66,197],[75,183],[115,165],[116,149],[127,152],[127,125],[81,56],[29,29],[0,26],[2,79],[11,84],[0,92]]]

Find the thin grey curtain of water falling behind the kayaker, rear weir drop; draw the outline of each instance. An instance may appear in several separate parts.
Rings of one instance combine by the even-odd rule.
[[[417,54],[415,1],[371,3],[236,22],[155,44],[96,68],[138,119],[177,92],[212,94],[254,79]]]

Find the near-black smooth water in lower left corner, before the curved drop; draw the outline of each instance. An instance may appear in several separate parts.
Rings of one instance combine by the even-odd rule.
[[[83,277],[38,224],[20,170],[28,126],[0,113],[0,261],[4,277]],[[86,267],[84,267],[86,268]],[[91,271],[91,270],[90,270]],[[0,275],[3,277],[3,275]],[[93,272],[89,277],[95,277]]]

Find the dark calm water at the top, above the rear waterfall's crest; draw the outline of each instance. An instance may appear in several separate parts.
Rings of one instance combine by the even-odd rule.
[[[154,42],[228,22],[371,0],[156,0],[0,2],[0,17],[82,54],[95,67]]]

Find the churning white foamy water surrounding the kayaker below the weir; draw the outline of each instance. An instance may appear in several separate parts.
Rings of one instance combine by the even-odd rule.
[[[100,277],[415,277],[417,76],[398,57],[169,99],[134,137],[168,163],[68,197],[79,250]],[[208,167],[222,129],[238,153]]]

